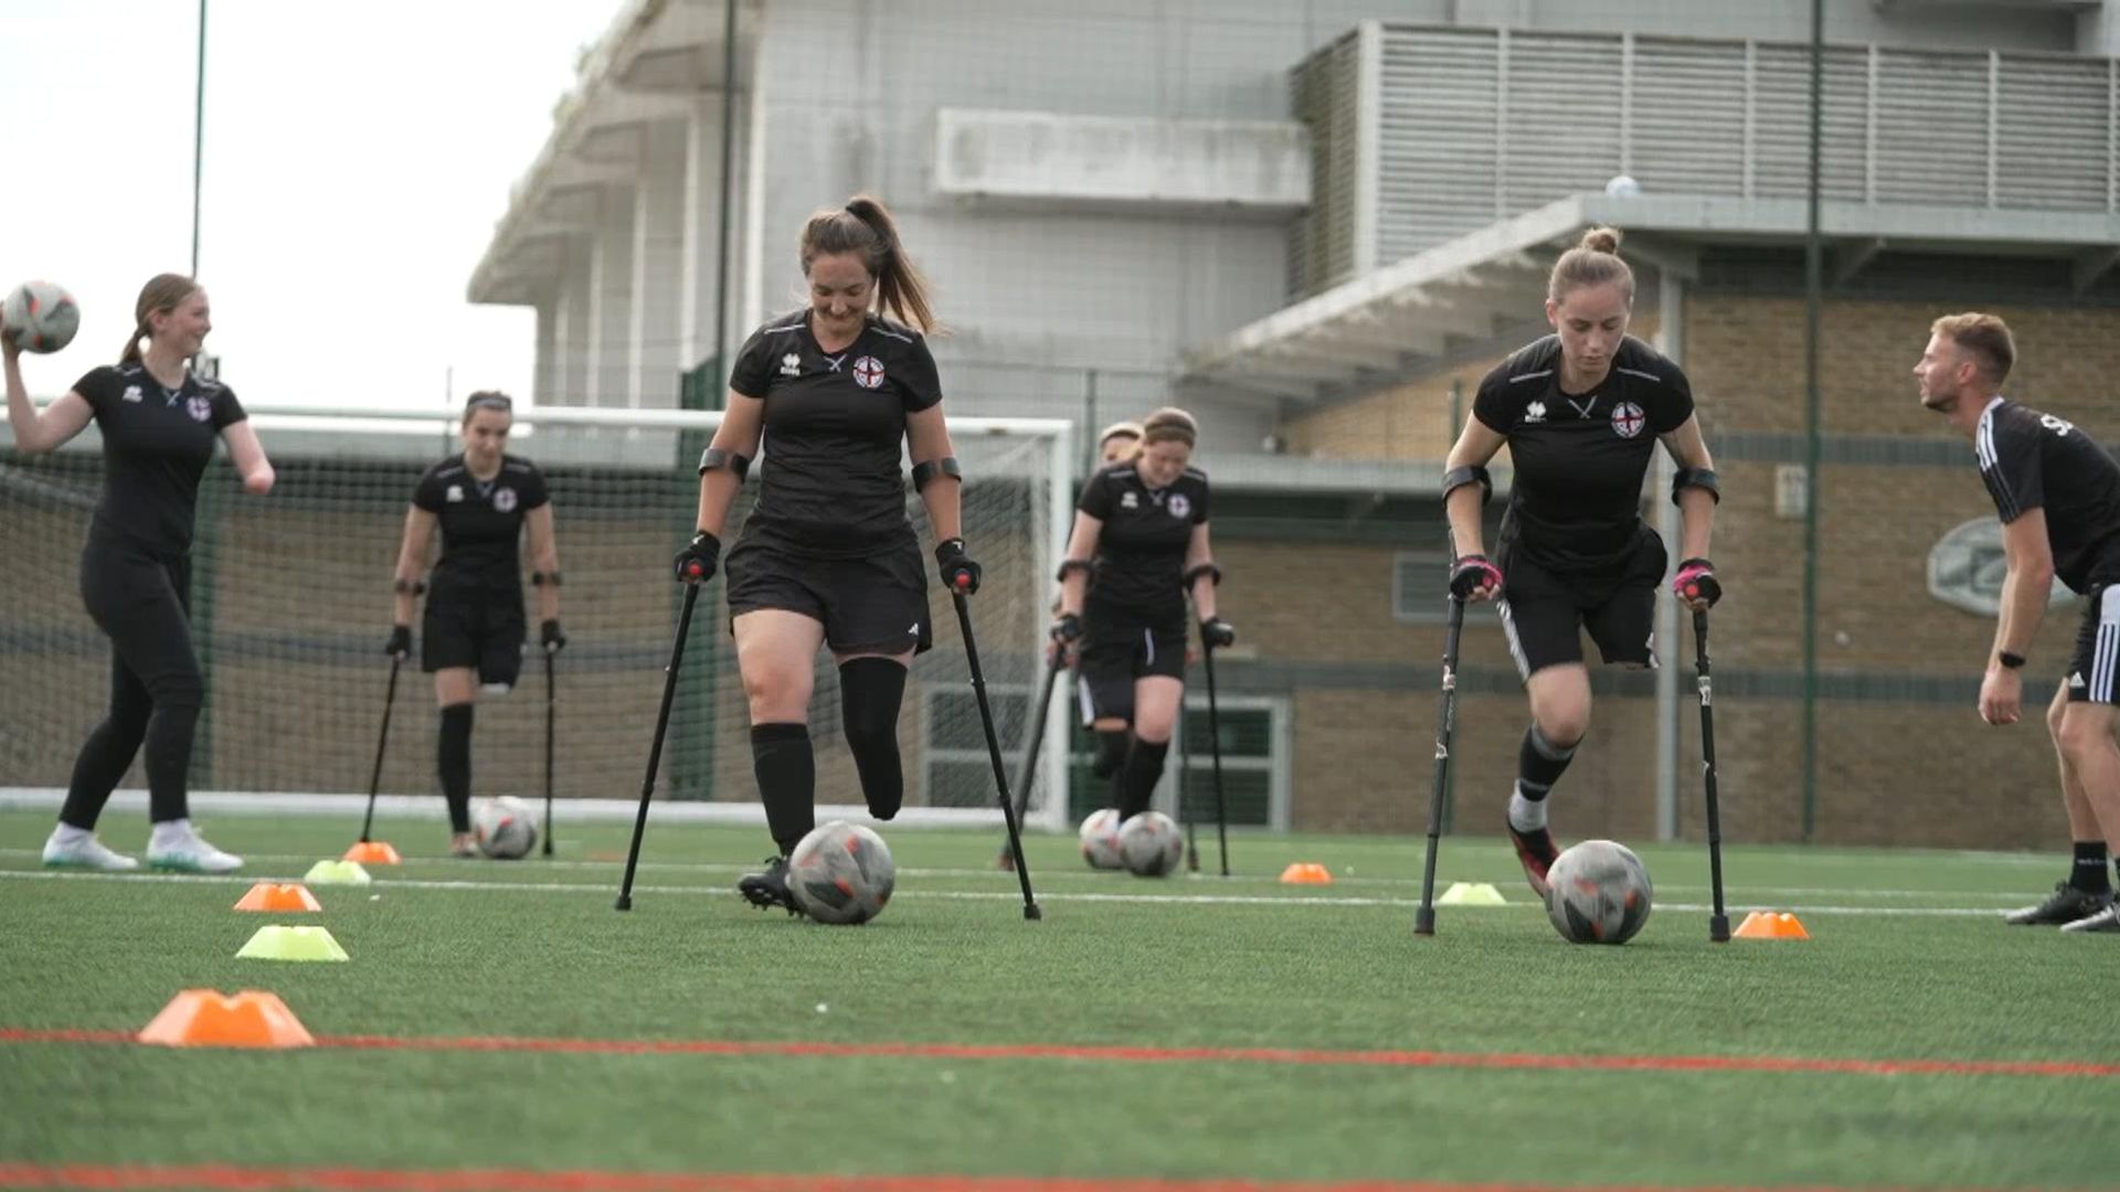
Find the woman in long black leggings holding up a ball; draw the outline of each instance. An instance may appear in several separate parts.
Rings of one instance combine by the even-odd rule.
[[[191,530],[214,439],[229,445],[244,492],[263,496],[273,486],[271,462],[235,390],[187,367],[212,329],[206,291],[191,278],[161,274],[140,291],[119,365],[91,369],[42,414],[21,382],[21,348],[0,337],[6,414],[21,452],[57,450],[91,420],[104,439],[104,494],[81,549],[81,602],[110,636],[110,715],[74,761],[59,825],[45,842],[47,865],[140,867],[95,840],[95,819],[142,742],[155,823],[148,865],[227,874],[244,863],[191,827],[184,785],[206,702],[199,660],[191,653]]]

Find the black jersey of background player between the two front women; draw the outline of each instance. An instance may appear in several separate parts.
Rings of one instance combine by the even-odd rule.
[[[1102,522],[1090,600],[1143,621],[1185,615],[1185,547],[1206,524],[1206,473],[1185,469],[1170,488],[1149,488],[1132,462],[1111,464],[1081,486],[1077,509]]]

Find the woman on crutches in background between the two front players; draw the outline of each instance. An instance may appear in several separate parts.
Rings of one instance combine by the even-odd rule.
[[[1096,732],[1096,768],[1111,774],[1121,821],[1147,810],[1185,702],[1185,594],[1202,643],[1236,643],[1215,615],[1206,473],[1189,467],[1200,424],[1158,409],[1141,428],[1138,454],[1081,490],[1052,630],[1062,645],[1079,641],[1092,723],[1113,725]]]

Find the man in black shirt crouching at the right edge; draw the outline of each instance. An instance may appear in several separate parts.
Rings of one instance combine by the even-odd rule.
[[[2016,365],[2010,327],[1993,314],[1950,314],[1929,327],[1914,365],[1921,403],[1974,441],[1980,479],[2001,518],[2001,617],[1980,679],[1980,719],[2016,723],[2031,649],[2054,579],[2080,592],[2075,655],[2046,708],[2061,761],[2061,802],[2075,857],[2054,893],[2006,918],[2063,931],[2116,931],[2107,853],[2120,855],[2120,747],[2114,679],[2120,668],[2120,464],[2073,422],[2001,397]]]

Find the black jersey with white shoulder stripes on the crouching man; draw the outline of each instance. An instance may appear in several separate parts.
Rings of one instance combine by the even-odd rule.
[[[2073,422],[1997,397],[1974,433],[1980,479],[2008,526],[2046,509],[2054,575],[2073,592],[2120,581],[2120,462]]]

